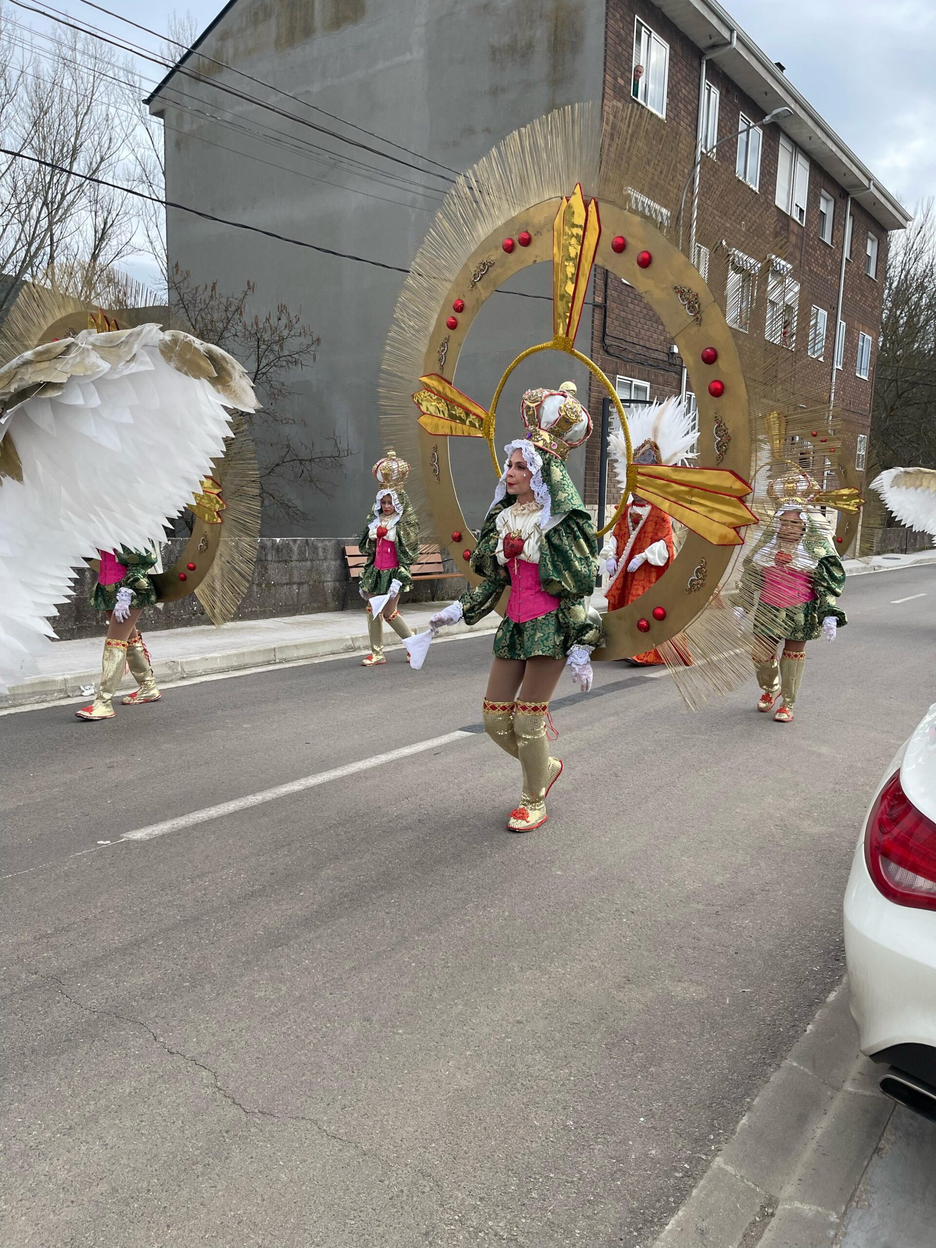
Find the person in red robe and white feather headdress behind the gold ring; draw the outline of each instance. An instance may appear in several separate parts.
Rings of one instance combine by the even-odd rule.
[[[653,403],[631,416],[628,427],[634,447],[634,463],[681,464],[695,458],[691,448],[696,431],[679,398]],[[626,489],[628,448],[623,433],[613,433],[609,451],[622,490]],[[665,512],[643,498],[631,495],[604,548],[608,584],[608,610],[629,607],[645,594],[675,558],[673,522]],[[663,663],[658,650],[646,650],[629,660],[633,664]]]

